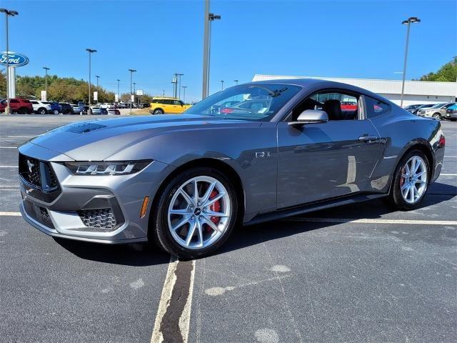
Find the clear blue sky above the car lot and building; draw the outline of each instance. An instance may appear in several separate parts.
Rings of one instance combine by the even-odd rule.
[[[19,75],[88,78],[129,91],[172,93],[175,71],[185,74],[186,100],[201,97],[203,1],[9,1],[10,50],[29,56]],[[254,74],[401,79],[408,16],[411,28],[407,79],[436,71],[457,54],[457,1],[211,1],[211,93]],[[0,49],[5,49],[0,16]],[[95,81],[93,77],[92,81]]]

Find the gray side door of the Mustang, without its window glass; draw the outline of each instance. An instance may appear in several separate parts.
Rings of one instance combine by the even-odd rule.
[[[371,121],[363,119],[362,99],[356,100],[355,119],[303,126],[278,123],[278,208],[370,189],[379,136]]]

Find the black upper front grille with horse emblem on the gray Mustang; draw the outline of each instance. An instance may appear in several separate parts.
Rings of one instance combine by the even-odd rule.
[[[51,164],[46,161],[19,154],[19,175],[25,182],[46,193],[54,192],[59,188],[56,174]]]

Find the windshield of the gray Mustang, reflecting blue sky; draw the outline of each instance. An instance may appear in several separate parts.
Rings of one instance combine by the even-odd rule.
[[[234,86],[209,96],[184,113],[268,121],[300,90],[300,86],[289,84]]]

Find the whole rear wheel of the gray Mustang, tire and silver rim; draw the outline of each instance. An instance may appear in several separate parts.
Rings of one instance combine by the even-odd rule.
[[[427,156],[420,150],[403,156],[393,176],[389,199],[401,211],[416,209],[427,192],[431,172]]]

